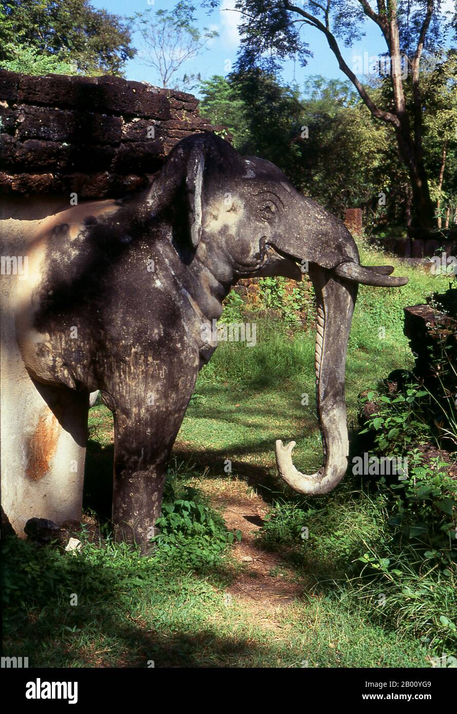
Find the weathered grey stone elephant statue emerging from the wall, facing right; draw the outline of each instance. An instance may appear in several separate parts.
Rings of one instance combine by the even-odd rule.
[[[276,166],[240,156],[213,134],[189,136],[146,191],[38,221],[26,254],[28,277],[16,281],[9,302],[9,341],[42,409],[23,399],[16,408],[29,412],[27,428],[9,426],[23,455],[7,475],[16,528],[30,516],[80,515],[89,393],[100,390],[114,415],[113,522],[120,538],[146,543],[197,374],[216,348],[202,326],[221,316],[239,278],[298,281],[303,264],[318,310],[324,464],[303,475],[291,460],[294,442],[277,441],[278,472],[308,494],[343,478],[346,348],[358,284],[402,286],[407,278],[361,266],[344,224]],[[15,479],[26,484],[19,491]]]

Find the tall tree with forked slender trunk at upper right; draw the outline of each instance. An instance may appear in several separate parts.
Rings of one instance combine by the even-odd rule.
[[[220,0],[205,0],[206,6]],[[441,12],[441,0],[236,0],[240,13],[241,52],[238,68],[262,66],[277,71],[295,56],[302,66],[310,54],[301,30],[311,26],[325,36],[338,65],[361,96],[374,119],[393,127],[398,152],[408,171],[413,196],[413,223],[431,227],[434,206],[423,157],[423,93],[420,62],[423,51],[436,53],[446,41],[451,23]],[[386,44],[382,58],[391,86],[391,104],[379,106],[341,53],[363,36],[371,21]],[[455,18],[453,18],[455,27]],[[407,76],[405,76],[407,70]],[[382,63],[379,66],[382,74]],[[406,84],[411,101],[406,102]]]

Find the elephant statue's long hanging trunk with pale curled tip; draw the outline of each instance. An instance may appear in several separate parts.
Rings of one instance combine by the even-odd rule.
[[[346,426],[346,350],[358,282],[340,278],[335,271],[310,265],[318,308],[316,332],[316,401],[323,440],[324,465],[306,476],[292,463],[295,441],[276,441],[278,472],[288,486],[310,496],[328,493],[341,481],[348,463]],[[346,277],[346,276],[345,276]]]

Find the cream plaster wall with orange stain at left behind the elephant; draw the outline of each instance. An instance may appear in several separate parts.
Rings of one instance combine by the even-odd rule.
[[[55,213],[56,203],[50,201],[48,208],[36,204],[39,217]],[[68,208],[68,203],[62,207]],[[36,216],[34,206],[27,205],[25,199],[19,208],[16,215],[22,220],[0,220],[2,256],[24,256],[33,239],[37,221],[24,218]],[[11,215],[0,207],[0,216],[2,213]],[[0,458],[1,506],[16,533],[24,537],[24,525],[34,516],[59,525],[81,518],[86,403],[69,391],[36,386],[26,372],[14,323],[20,281],[20,276],[0,276]],[[59,407],[54,411],[60,423],[46,401]],[[41,466],[49,468],[34,470],[37,458]],[[40,478],[36,478],[37,472]]]

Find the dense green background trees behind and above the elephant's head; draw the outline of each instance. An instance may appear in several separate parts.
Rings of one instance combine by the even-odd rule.
[[[448,82],[453,61],[449,56],[424,79],[438,116],[433,120],[435,115],[428,115],[424,135],[424,158],[438,208],[440,200],[444,208],[456,191],[456,88]],[[376,101],[389,101],[384,96],[390,91],[388,82],[373,81],[368,89]],[[214,76],[201,83],[201,94],[201,114],[214,124],[225,124],[238,151],[273,161],[297,188],[329,210],[342,217],[346,208],[360,206],[366,226],[378,231],[391,226],[398,232],[396,226],[408,221],[411,189],[394,129],[373,119],[348,81],[311,76],[299,91],[256,68],[247,74]],[[447,109],[441,111],[438,105]]]

